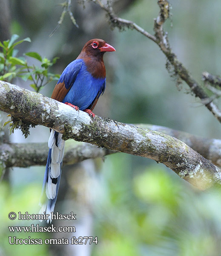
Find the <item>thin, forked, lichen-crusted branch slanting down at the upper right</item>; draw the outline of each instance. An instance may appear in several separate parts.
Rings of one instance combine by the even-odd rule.
[[[167,32],[164,32],[163,25],[166,20],[169,18],[170,5],[167,0],[158,0],[158,6],[160,7],[160,12],[157,18],[155,18],[154,22],[154,31],[155,35],[151,35],[149,32],[145,31],[143,28],[138,26],[135,22],[130,20],[125,20],[117,15],[112,10],[112,6],[105,6],[100,0],[92,0],[97,3],[109,16],[109,20],[114,27],[118,27],[120,30],[125,28],[135,29],[140,32],[142,35],[154,41],[161,48],[162,52],[167,58],[167,70],[171,73],[172,76],[177,78],[178,83],[180,83],[179,79],[185,81],[190,87],[192,93],[199,99],[201,102],[208,108],[208,110],[221,122],[221,110],[215,105],[214,102],[211,101],[210,97],[207,93],[201,88],[198,82],[190,75],[189,71],[184,64],[182,64],[175,53],[172,51],[169,46],[169,40],[167,36]]]

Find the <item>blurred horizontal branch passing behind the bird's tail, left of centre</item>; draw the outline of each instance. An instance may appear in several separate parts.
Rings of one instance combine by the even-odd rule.
[[[48,151],[48,143],[3,143],[0,144],[0,161],[6,167],[45,166]],[[115,152],[89,143],[68,140],[65,143],[63,165],[104,157]]]

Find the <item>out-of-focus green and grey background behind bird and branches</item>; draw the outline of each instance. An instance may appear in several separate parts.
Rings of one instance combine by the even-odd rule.
[[[110,29],[105,13],[94,3],[72,1],[79,28],[67,14],[52,37],[62,13],[59,0],[0,0],[5,24],[0,41],[18,34],[32,42],[20,44],[19,54],[35,51],[59,59],[53,69],[62,73],[91,38],[115,47],[106,53],[107,86],[94,113],[125,123],[149,123],[220,139],[221,125],[186,84],[176,86],[166,71],[166,58],[158,46],[136,31]],[[164,26],[178,58],[203,86],[201,73],[220,74],[221,2],[170,0],[172,16]],[[84,6],[84,7],[83,7]],[[118,0],[117,14],[153,33],[157,0]],[[32,59],[30,59],[32,61]],[[37,64],[37,63],[36,63]],[[14,84],[29,87],[14,79]],[[55,82],[40,93],[51,96]],[[5,120],[1,113],[1,118]],[[49,129],[32,128],[25,139],[20,131],[13,143],[46,142]],[[6,136],[7,137],[7,136]],[[0,256],[220,256],[221,191],[201,192],[162,164],[123,153],[104,159],[64,166],[55,212],[74,212],[76,221],[54,221],[75,226],[76,233],[10,233],[8,226],[30,226],[38,221],[10,221],[9,212],[38,213],[44,166],[6,170],[0,184]],[[41,223],[46,226],[46,223]],[[10,245],[17,238],[97,236],[98,244]]]

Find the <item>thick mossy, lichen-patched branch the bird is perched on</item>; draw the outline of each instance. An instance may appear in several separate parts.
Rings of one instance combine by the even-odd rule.
[[[83,111],[3,81],[0,81],[0,110],[19,119],[23,128],[44,125],[62,133],[64,140],[72,138],[153,159],[199,189],[221,184],[221,169],[169,135],[99,116],[92,119]]]

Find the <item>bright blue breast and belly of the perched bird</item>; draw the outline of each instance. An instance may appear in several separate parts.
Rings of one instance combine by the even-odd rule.
[[[82,66],[77,74],[77,77],[66,96],[63,99],[63,103],[69,102],[72,105],[77,106],[80,110],[85,110],[91,105],[97,95],[105,90],[106,78],[95,79],[86,68],[86,65],[82,59],[76,61],[82,61]],[[69,64],[70,65],[70,64]],[[66,67],[68,69],[68,66]],[[67,70],[66,70],[67,71]],[[74,71],[74,70],[73,70]],[[66,81],[71,81],[68,76],[73,76],[74,72],[66,73]],[[69,86],[69,84],[67,85]]]

